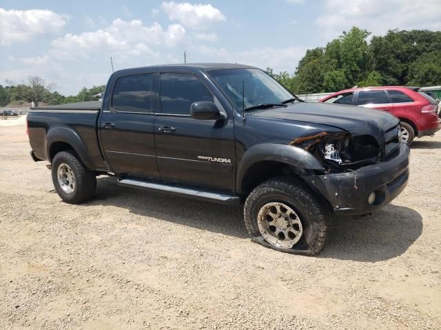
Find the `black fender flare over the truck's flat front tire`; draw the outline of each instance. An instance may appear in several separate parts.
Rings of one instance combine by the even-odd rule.
[[[256,144],[246,151],[238,164],[236,175],[236,191],[238,193],[243,192],[243,177],[247,170],[253,164],[264,161],[280,162],[307,170],[325,170],[314,155],[298,146],[274,143]]]

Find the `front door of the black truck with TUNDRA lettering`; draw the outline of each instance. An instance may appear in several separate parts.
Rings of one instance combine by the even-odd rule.
[[[234,191],[232,115],[226,120],[194,119],[191,104],[216,103],[212,92],[192,74],[161,73],[160,80],[161,107],[155,115],[154,137],[161,179]]]

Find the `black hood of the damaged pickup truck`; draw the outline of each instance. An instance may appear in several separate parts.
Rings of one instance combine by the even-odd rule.
[[[248,115],[256,117],[312,122],[343,129],[351,135],[369,134],[378,137],[398,125],[398,118],[382,110],[344,104],[289,103],[288,107],[259,110]]]

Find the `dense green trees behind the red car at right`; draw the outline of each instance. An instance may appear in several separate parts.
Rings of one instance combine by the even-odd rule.
[[[293,73],[267,72],[295,94],[382,85],[441,85],[441,32],[353,27],[325,47],[307,50]]]

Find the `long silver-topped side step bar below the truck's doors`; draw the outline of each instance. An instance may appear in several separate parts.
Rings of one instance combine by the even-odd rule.
[[[227,195],[219,192],[211,192],[205,190],[198,190],[194,188],[183,188],[177,186],[169,186],[167,184],[157,184],[153,182],[139,181],[134,179],[119,179],[116,180],[119,186],[140,188],[143,190],[150,190],[156,192],[165,192],[167,194],[193,197],[197,199],[203,199],[206,201],[214,201],[216,203],[223,203],[228,205],[234,205],[240,203],[240,198],[235,195]]]

